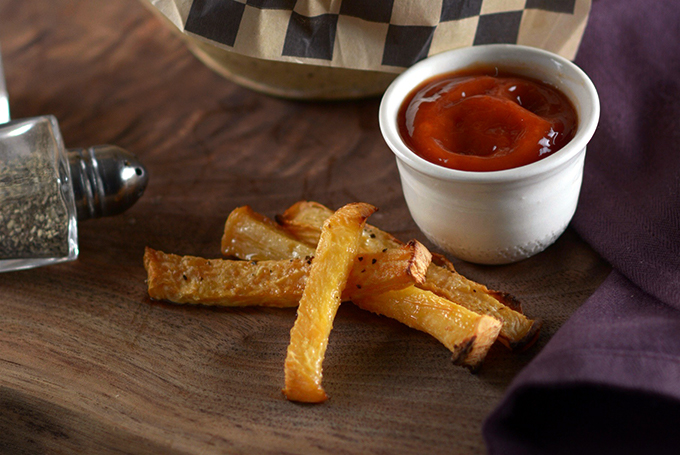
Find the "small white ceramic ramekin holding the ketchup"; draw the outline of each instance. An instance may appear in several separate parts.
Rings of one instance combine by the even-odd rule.
[[[571,142],[535,163],[493,172],[448,169],[416,155],[397,126],[404,98],[427,79],[475,65],[495,65],[561,90],[578,115]],[[389,86],[379,114],[418,227],[444,251],[482,264],[527,258],[564,232],[576,211],[586,145],[599,117],[597,91],[580,68],[550,52],[506,44],[456,49],[420,61]]]

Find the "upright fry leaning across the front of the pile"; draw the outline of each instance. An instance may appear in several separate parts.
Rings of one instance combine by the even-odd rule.
[[[348,204],[331,215],[321,229],[297,319],[290,331],[283,389],[289,400],[319,403],[328,398],[321,386],[328,335],[366,218],[375,210],[370,204]]]

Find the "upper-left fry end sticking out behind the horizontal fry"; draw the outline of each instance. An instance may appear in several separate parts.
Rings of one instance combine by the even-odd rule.
[[[234,209],[224,225],[224,256],[248,261],[304,259],[314,255],[314,248],[315,246],[300,243],[286,230],[249,206]]]

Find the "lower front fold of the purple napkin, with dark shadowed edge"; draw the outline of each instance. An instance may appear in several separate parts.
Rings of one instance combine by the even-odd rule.
[[[491,454],[677,454],[680,315],[614,271],[515,379]]]

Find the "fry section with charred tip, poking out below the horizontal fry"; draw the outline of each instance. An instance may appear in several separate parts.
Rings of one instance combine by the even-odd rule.
[[[427,332],[452,352],[452,361],[476,370],[498,337],[502,323],[410,286],[397,291],[355,299],[368,311],[396,319]]]

